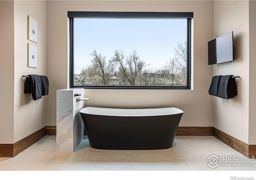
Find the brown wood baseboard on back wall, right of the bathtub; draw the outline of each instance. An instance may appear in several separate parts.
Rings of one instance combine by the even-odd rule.
[[[213,136],[213,127],[178,127],[176,136]]]

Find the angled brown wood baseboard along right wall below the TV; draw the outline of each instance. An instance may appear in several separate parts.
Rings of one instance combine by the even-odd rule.
[[[218,140],[224,142],[225,144],[227,144],[228,146],[230,146],[231,148],[233,148],[234,150],[240,152],[241,154],[244,154],[244,156],[249,155],[249,148],[248,148],[248,144],[226,134],[225,132],[222,132],[216,128],[213,128],[213,134],[214,137],[217,138]],[[255,145],[251,145],[251,146],[255,146]]]

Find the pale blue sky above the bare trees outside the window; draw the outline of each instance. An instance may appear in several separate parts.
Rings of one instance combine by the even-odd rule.
[[[174,57],[178,42],[185,42],[186,19],[75,18],[74,72],[90,65],[90,53],[96,50],[110,60],[115,50],[129,54],[136,50],[146,61],[146,69],[155,71]]]

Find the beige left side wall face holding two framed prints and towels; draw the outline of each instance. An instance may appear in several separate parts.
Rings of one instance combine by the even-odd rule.
[[[28,16],[38,21],[38,43],[28,40]],[[38,68],[28,67],[28,43],[38,46]],[[14,1],[14,142],[46,126],[46,96],[24,94],[28,74],[46,75],[46,1]]]

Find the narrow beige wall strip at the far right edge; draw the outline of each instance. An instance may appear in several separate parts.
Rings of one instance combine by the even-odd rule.
[[[249,144],[256,144],[256,1],[249,1],[250,86],[249,86]]]

